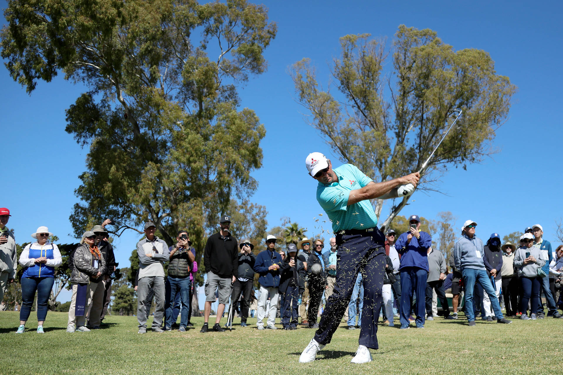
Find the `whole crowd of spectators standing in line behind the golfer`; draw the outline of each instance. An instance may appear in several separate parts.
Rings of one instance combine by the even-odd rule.
[[[0,208],[0,301],[7,284],[14,282],[19,263],[23,268],[22,303],[16,332],[24,333],[37,296],[37,332],[43,333],[54,271],[62,263],[61,254],[49,241],[53,233],[42,226],[31,234],[34,242],[25,246],[17,259],[14,233],[6,227],[10,216],[8,209]],[[236,311],[240,326],[247,327],[249,311],[254,310],[253,299],[257,300],[259,330],[278,329],[276,318],[284,330],[297,329],[299,325],[318,328],[323,301],[334,292],[337,269],[343,266],[338,263],[336,238],[330,238],[328,246],[321,239],[302,238],[276,249],[278,238],[269,235],[265,238],[266,249],[254,252],[251,241],[238,241],[231,235],[230,216],[221,216],[219,221],[219,231],[209,236],[202,249],[207,273],[204,324],[200,332],[222,332],[232,327]],[[111,299],[111,274],[117,266],[105,230],[109,223],[106,220],[84,232],[69,256],[69,333],[99,329],[105,317]],[[543,238],[542,225],[526,228],[519,243],[513,244],[501,243],[498,233],[482,240],[476,235],[477,223],[467,220],[447,261],[439,249],[432,247],[431,235],[421,231],[418,215],[409,216],[409,226],[409,231],[399,236],[392,229],[385,233],[381,311],[374,314],[376,320],[382,315],[379,323],[390,327],[397,324],[401,329],[424,328],[426,320],[440,316],[458,319],[462,308],[468,326],[475,326],[478,317],[498,323],[511,323],[507,318],[563,317],[559,311],[563,309],[563,245],[552,249],[551,243]],[[194,326],[190,316],[198,272],[196,249],[191,246],[187,231],[179,231],[172,246],[157,237],[153,222],[145,223],[144,232],[145,237],[137,243],[138,333],[147,331],[153,299],[151,330],[177,328],[185,332]],[[361,327],[365,285],[360,272],[342,318],[348,329]],[[212,304],[216,301],[215,323],[209,327]],[[224,315],[227,323],[221,326]]]

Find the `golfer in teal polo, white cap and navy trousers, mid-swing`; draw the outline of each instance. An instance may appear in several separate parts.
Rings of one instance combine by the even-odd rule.
[[[313,152],[305,161],[312,178],[319,182],[316,197],[332,222],[336,237],[336,285],[309,345],[299,362],[312,362],[330,342],[350,301],[359,272],[363,274],[364,309],[359,347],[352,363],[372,360],[369,349],[378,349],[377,320],[381,310],[385,273],[385,235],[377,228],[377,216],[370,199],[396,198],[412,194],[420,175],[412,173],[394,180],[374,183],[356,166],[345,164],[332,169],[330,160]],[[405,186],[406,184],[406,186]],[[405,192],[405,193],[403,193]]]

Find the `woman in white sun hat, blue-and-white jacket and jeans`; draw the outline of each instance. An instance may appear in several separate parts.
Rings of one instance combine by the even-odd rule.
[[[16,333],[24,333],[25,322],[32,311],[35,292],[37,292],[37,333],[43,333],[43,323],[47,317],[47,303],[55,282],[55,267],[62,263],[57,245],[49,242],[47,227],[37,228],[32,237],[37,241],[25,246],[20,255],[20,265],[24,267],[21,276],[20,327]]]

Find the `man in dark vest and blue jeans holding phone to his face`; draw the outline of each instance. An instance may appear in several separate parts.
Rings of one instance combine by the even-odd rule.
[[[176,295],[180,293],[181,318],[178,331],[186,332],[187,316],[190,311],[190,271],[195,260],[195,249],[190,247],[190,236],[186,231],[178,232],[176,245],[170,246],[168,277],[164,283],[164,329],[172,329],[172,308]],[[176,317],[177,318],[177,317]]]

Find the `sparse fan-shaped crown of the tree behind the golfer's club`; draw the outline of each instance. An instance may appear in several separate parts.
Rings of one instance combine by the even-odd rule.
[[[309,124],[341,161],[375,181],[418,170],[452,123],[452,110],[460,107],[457,126],[422,172],[418,188],[435,190],[449,166],[465,169],[494,152],[490,142],[507,118],[516,87],[495,72],[485,51],[456,52],[430,29],[401,25],[395,37],[388,78],[382,76],[385,41],[369,34],[340,38],[341,56],[332,63],[336,96],[317,81],[308,58],[296,62],[290,74],[298,101],[311,113]],[[408,200],[394,202],[384,227]],[[379,216],[383,201],[373,204]]]

